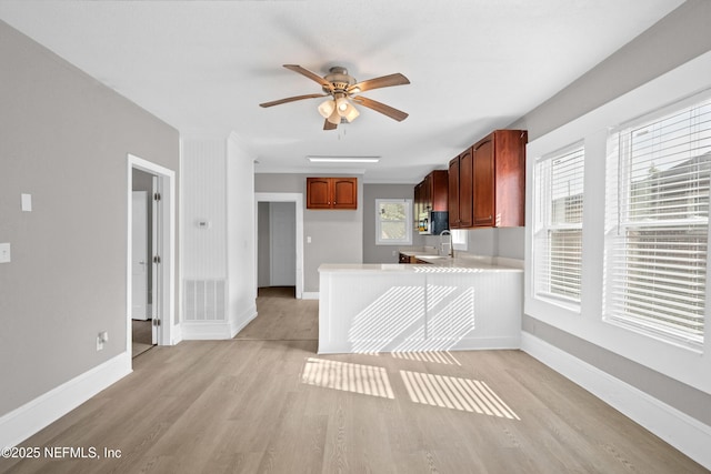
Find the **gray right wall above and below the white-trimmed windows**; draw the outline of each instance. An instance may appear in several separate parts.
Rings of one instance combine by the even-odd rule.
[[[510,128],[528,129],[529,140],[602,105],[711,50],[711,1],[689,0],[658,24],[574,81]],[[520,245],[523,248],[523,235]],[[509,242],[507,245],[512,245]],[[620,357],[599,346],[523,316],[523,330],[598,369],[711,424],[711,395]],[[702,374],[699,374],[702,376]]]

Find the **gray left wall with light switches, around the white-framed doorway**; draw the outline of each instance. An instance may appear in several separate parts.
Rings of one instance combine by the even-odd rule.
[[[177,172],[179,134],[2,21],[0,64],[2,415],[126,352],[127,153]]]

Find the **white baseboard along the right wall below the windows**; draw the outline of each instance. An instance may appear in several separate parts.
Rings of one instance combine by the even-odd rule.
[[[521,350],[711,470],[711,426],[530,333],[521,333]]]

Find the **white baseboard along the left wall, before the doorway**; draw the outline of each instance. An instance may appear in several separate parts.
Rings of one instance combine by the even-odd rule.
[[[0,447],[17,446],[132,372],[123,352],[0,417]]]

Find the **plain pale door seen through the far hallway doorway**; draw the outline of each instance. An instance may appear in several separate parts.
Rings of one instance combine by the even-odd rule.
[[[297,206],[293,202],[270,203],[271,286],[297,284]]]

